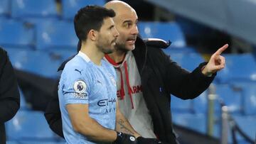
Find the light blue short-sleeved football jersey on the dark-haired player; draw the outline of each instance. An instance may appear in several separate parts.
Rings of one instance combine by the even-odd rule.
[[[82,52],[73,57],[61,74],[58,98],[67,143],[91,144],[84,135],[74,131],[66,104],[88,104],[89,115],[101,126],[114,130],[116,118],[116,72],[105,60],[95,65]]]

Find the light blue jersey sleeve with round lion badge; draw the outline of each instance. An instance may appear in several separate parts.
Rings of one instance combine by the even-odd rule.
[[[63,99],[65,104],[88,104],[92,77],[81,68],[69,68],[62,77]]]

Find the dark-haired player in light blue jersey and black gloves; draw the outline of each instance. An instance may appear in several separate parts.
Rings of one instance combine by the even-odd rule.
[[[116,118],[127,119],[118,109],[114,67],[102,59],[114,50],[119,35],[114,16],[114,11],[100,6],[86,6],[75,15],[82,47],[65,65],[58,89],[67,143],[137,143],[139,134],[129,124],[125,127],[133,135],[117,132]]]

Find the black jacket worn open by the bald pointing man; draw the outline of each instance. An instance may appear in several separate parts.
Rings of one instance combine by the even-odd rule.
[[[171,123],[170,94],[181,99],[196,98],[208,88],[214,76],[205,77],[201,73],[206,62],[191,73],[181,69],[159,46],[166,47],[163,43],[144,43],[137,38],[132,52],[141,75],[142,92],[154,123],[154,133],[161,141],[176,143]],[[50,128],[63,137],[57,96],[48,105],[45,116]]]

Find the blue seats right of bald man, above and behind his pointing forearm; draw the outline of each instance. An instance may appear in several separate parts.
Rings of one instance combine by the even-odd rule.
[[[167,48],[164,52],[179,65],[191,71],[204,60],[200,54],[186,52],[186,49],[180,48],[177,52],[177,48]],[[226,67],[218,72],[215,79],[216,83],[225,84],[228,82],[256,80],[256,61],[251,53],[224,54],[223,56],[225,57]]]

